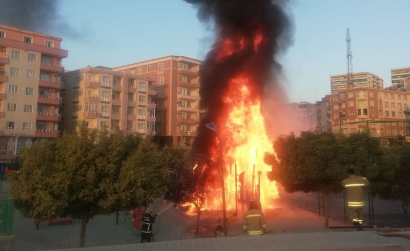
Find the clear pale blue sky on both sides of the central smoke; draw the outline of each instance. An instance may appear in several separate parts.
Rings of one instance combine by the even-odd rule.
[[[330,94],[330,76],[346,73],[346,28],[354,72],[376,74],[386,87],[391,69],[410,66],[408,0],[293,0],[287,12],[294,38],[279,60],[291,102],[320,100]],[[59,15],[80,34],[63,36],[67,70],[167,55],[202,60],[214,39],[182,0],[62,0]]]

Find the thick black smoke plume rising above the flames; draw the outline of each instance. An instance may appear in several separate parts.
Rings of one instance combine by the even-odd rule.
[[[211,155],[217,149],[216,134],[205,124],[223,126],[228,108],[223,102],[229,81],[240,74],[252,79],[253,97],[263,97],[272,81],[272,70],[280,71],[277,54],[291,44],[292,25],[285,8],[287,1],[271,0],[185,0],[197,9],[200,20],[211,22],[216,39],[207,54],[200,76],[200,107],[205,113],[193,144],[193,152]],[[256,34],[263,36],[258,50],[254,49]],[[220,58],[223,43],[233,42],[234,53]],[[222,118],[222,119],[221,119]],[[222,139],[223,145],[223,139]]]

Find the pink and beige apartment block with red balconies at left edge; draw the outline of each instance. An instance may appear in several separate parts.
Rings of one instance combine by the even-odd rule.
[[[0,25],[0,155],[59,135],[61,40]]]

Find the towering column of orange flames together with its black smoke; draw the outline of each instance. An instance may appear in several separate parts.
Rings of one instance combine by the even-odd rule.
[[[268,180],[270,167],[264,164],[263,156],[274,149],[261,107],[265,92],[272,87],[272,69],[279,65],[275,56],[283,49],[283,37],[290,27],[285,2],[186,2],[198,8],[200,19],[213,21],[216,32],[212,50],[200,70],[200,106],[207,112],[201,118],[193,152],[210,156],[218,165],[218,138],[205,126],[214,122],[222,141],[227,209],[235,209],[235,184],[241,186],[242,200],[260,197],[264,208],[272,208],[278,191],[275,182]],[[235,173],[227,170],[231,164],[237,165],[237,174],[244,172],[241,184]],[[260,172],[260,187],[255,181],[255,169]],[[213,169],[201,172],[203,186],[219,185]],[[209,194],[206,208],[221,209],[220,191],[214,189]]]

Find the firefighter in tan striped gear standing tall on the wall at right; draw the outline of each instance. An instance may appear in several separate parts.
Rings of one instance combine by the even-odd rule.
[[[342,186],[347,189],[347,206],[350,220],[357,231],[363,230],[363,188],[367,187],[368,184],[368,180],[365,177],[357,176],[352,168],[347,169],[347,178],[342,181]]]

